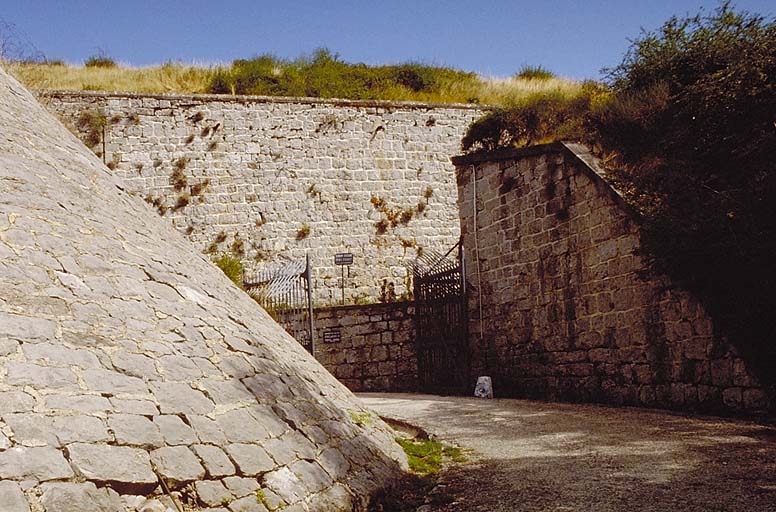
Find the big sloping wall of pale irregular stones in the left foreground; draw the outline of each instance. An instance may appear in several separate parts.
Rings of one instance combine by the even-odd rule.
[[[173,487],[205,466],[211,478],[271,473],[272,437],[297,458],[351,439],[402,462],[383,423],[348,421],[358,401],[2,70],[0,126],[0,480],[35,512],[110,509],[105,489],[155,491],[154,465]],[[314,442],[291,432],[329,424]],[[340,481],[368,492],[390,478],[375,465]],[[313,471],[300,466],[300,496],[319,485]],[[155,496],[135,505],[174,509]]]

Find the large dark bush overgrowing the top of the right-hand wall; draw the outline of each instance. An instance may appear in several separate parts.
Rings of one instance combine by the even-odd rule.
[[[472,125],[467,151],[576,138],[604,156],[644,215],[654,269],[695,292],[715,325],[776,382],[776,21],[671,18],[636,39],[610,93],[534,99]]]

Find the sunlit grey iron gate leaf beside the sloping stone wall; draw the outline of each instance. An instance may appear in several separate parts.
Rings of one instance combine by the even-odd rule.
[[[272,318],[315,355],[310,257],[246,276],[243,282]]]

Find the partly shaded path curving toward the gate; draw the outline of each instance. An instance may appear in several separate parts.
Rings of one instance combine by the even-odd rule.
[[[776,511],[776,428],[665,411],[360,394],[471,449],[428,511]]]

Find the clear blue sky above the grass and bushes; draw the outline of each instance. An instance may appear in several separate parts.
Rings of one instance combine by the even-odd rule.
[[[132,65],[212,64],[262,53],[295,58],[328,47],[348,62],[418,61],[509,76],[541,65],[600,78],[629,39],[716,1],[652,0],[0,0],[0,20],[49,58],[98,52]],[[772,0],[737,10],[773,17]]]

